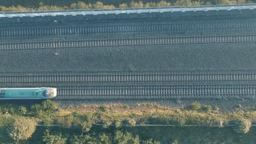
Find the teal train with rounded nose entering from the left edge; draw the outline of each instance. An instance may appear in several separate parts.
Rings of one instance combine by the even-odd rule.
[[[50,99],[57,95],[57,88],[0,88],[0,99]]]

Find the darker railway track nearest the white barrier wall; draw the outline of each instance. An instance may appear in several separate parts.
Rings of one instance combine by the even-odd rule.
[[[173,20],[172,20],[173,21]],[[0,28],[0,38],[26,38],[43,37],[47,35],[84,35],[103,33],[133,33],[133,32],[166,32],[166,31],[199,31],[217,29],[243,29],[255,28],[256,21],[194,21],[194,22],[172,22],[165,21],[142,21],[142,22],[120,22],[117,23],[86,23],[74,26],[32,26],[32,27],[3,27]]]

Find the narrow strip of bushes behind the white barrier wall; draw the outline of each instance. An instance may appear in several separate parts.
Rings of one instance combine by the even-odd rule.
[[[191,6],[191,5],[211,5],[211,4],[241,4],[253,3],[250,0],[173,0],[173,1],[0,1],[0,11],[36,11],[36,10],[65,10],[65,9],[114,9],[114,8],[142,8],[142,7],[168,7],[168,6]]]

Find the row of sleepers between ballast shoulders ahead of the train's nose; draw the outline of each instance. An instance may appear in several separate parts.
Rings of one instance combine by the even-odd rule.
[[[140,86],[140,87],[60,87],[58,95],[240,95],[256,94],[256,86]]]

